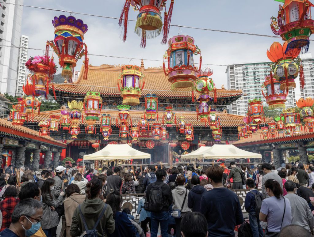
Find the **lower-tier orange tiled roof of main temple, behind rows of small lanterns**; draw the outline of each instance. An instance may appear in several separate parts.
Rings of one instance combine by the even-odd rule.
[[[60,114],[61,110],[51,110],[51,111],[46,111],[46,112],[41,112],[39,115],[36,114],[34,115],[34,121],[35,122],[40,122],[42,120],[48,119],[49,115],[51,113],[57,113]],[[110,109],[102,109],[101,113],[106,113],[111,115],[111,124],[115,125],[116,124],[116,118],[118,116],[118,110],[110,110]],[[159,123],[162,123],[162,115],[164,115],[165,111],[159,111]],[[82,112],[83,116],[84,112]],[[186,123],[192,123],[193,126],[205,126],[204,123],[202,123],[200,120],[197,120],[196,117],[196,112],[187,112],[187,111],[175,111],[177,120],[179,119],[180,115],[182,115],[185,119]],[[216,114],[219,116],[219,120],[221,123],[222,127],[237,127],[240,124],[243,124],[243,118],[244,116],[241,115],[234,115],[234,114],[229,114],[229,113],[224,113],[224,112],[216,112]],[[133,124],[137,124],[141,120],[141,116],[143,115],[143,111],[139,110],[130,110],[130,116],[132,119]],[[81,120],[82,121],[82,120]],[[266,122],[270,122],[272,119],[266,119]],[[100,121],[97,122],[96,124],[100,124]],[[207,125],[208,126],[208,125]]]

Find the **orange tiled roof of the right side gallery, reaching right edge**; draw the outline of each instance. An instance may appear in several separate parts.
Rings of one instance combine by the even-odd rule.
[[[305,131],[305,129],[302,129],[301,133],[298,135],[294,135],[292,137],[283,137],[282,134],[280,134],[278,137],[269,138],[269,139],[263,139],[261,137],[262,130],[259,129],[256,133],[252,135],[252,137],[238,140],[232,145],[235,145],[237,147],[244,147],[244,146],[252,146],[252,145],[267,145],[271,143],[285,143],[285,142],[293,142],[300,139],[306,139],[306,138],[312,138],[314,140],[314,132],[309,132],[308,130]]]

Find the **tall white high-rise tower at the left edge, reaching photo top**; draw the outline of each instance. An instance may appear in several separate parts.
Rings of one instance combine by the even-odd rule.
[[[12,3],[12,4],[7,4]],[[23,0],[3,0],[0,18],[0,93],[16,92]]]

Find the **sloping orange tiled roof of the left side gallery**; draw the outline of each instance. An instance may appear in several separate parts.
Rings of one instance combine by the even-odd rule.
[[[54,145],[57,147],[66,148],[67,145],[54,140],[50,136],[41,136],[39,132],[34,131],[33,129],[27,128],[25,126],[14,126],[8,120],[0,119],[0,134],[1,133],[8,133],[14,136],[28,138],[30,140],[39,141],[46,145]]]

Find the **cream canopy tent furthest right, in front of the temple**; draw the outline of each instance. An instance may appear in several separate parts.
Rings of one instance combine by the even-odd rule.
[[[248,159],[262,158],[261,154],[241,150],[234,145],[215,144],[203,153],[204,159]]]

